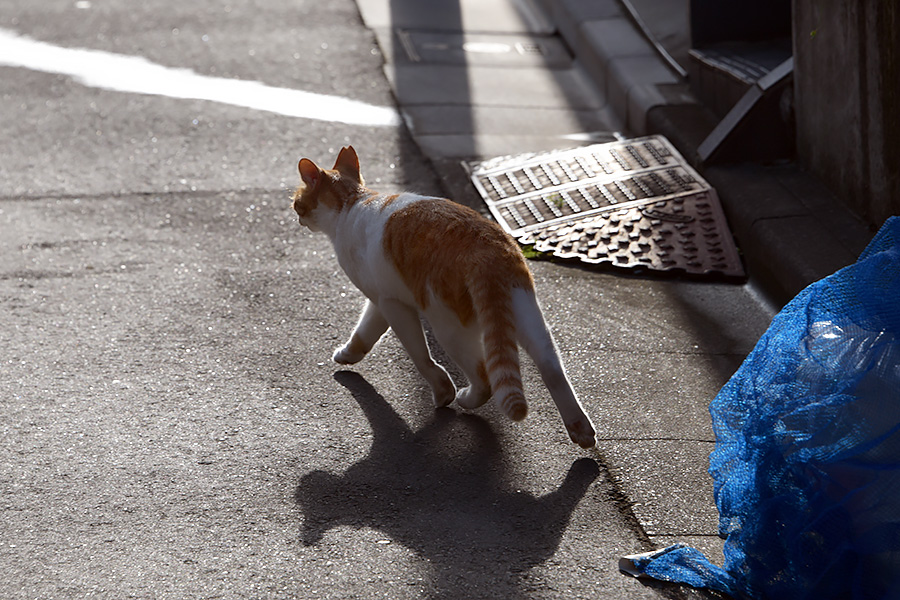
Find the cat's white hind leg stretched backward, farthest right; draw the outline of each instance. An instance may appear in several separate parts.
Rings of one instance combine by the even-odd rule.
[[[541,379],[559,410],[569,437],[582,448],[593,447],[596,443],[594,425],[585,414],[566,376],[534,291],[516,288],[513,290],[512,301],[519,344],[534,360]]]

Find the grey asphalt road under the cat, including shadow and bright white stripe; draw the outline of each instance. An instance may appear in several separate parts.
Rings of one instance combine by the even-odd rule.
[[[653,532],[616,465],[637,431],[708,444],[767,320],[746,290],[535,263],[605,449],[528,363],[523,423],[436,412],[391,336],[331,363],[361,296],[289,208],[298,159],[347,143],[372,187],[441,193],[352,1],[5,0],[0,42],[0,596],[686,593],[617,572]],[[276,88],[314,118],[254,107]]]

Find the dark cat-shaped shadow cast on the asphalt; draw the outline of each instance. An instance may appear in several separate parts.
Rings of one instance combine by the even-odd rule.
[[[481,417],[441,409],[414,432],[361,375],[334,377],[362,408],[374,439],[344,473],[302,477],[302,541],[319,544],[341,525],[381,531],[432,565],[434,595],[456,596],[461,582],[467,597],[502,596],[498,585],[514,592],[523,573],[556,552],[600,474],[596,461],[582,458],[555,491],[516,491],[505,476],[511,457]]]

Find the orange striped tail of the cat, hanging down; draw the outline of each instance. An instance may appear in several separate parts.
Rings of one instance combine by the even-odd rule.
[[[528,414],[519,370],[516,318],[508,285],[495,277],[473,285],[472,299],[484,332],[484,366],[494,401],[514,421]]]

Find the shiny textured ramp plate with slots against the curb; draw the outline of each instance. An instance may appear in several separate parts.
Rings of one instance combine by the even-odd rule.
[[[715,190],[661,136],[466,165],[513,237],[561,258],[744,277]]]

